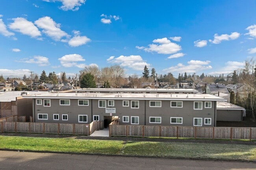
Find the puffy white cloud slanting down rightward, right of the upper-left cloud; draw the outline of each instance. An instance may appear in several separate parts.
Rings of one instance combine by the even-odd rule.
[[[60,41],[63,37],[70,37],[65,31],[62,31],[60,29],[60,24],[54,22],[54,20],[49,16],[39,18],[35,21],[35,25],[43,29],[43,33],[45,33],[47,36],[51,37],[55,41]]]

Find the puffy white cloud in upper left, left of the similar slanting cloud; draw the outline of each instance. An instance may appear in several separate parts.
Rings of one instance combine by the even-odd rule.
[[[33,24],[33,22],[30,22],[25,18],[21,18],[21,17],[13,18],[13,20],[14,22],[8,25],[10,29],[20,32],[24,35],[28,35],[32,38],[41,36],[40,31]]]

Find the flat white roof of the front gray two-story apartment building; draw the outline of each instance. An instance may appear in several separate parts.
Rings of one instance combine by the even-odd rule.
[[[172,101],[226,101],[210,94],[167,94],[167,93],[44,93],[26,95],[33,99],[102,99],[102,100],[172,100]]]

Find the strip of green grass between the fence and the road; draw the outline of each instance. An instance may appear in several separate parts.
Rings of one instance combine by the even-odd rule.
[[[123,142],[74,138],[0,136],[0,148],[48,152],[256,161],[256,146],[244,144]]]

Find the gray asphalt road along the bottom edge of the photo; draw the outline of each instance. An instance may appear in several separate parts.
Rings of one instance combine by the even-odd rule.
[[[0,170],[256,170],[256,163],[0,151]]]

